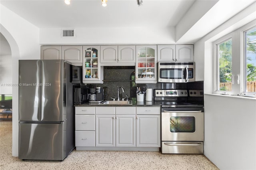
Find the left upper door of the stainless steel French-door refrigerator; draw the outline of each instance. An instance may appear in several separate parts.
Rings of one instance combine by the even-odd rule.
[[[40,60],[19,60],[19,120],[40,121]]]

